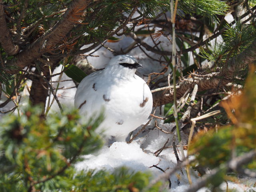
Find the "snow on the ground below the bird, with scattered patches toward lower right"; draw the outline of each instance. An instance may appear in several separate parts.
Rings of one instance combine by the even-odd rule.
[[[158,140],[156,138],[159,136]],[[153,130],[147,132],[143,138],[138,138],[133,141],[131,144],[125,142],[114,142],[110,147],[104,146],[99,152],[95,154],[90,154],[83,156],[84,161],[76,164],[77,170],[88,170],[88,169],[105,169],[107,171],[113,171],[115,168],[126,166],[131,170],[136,171],[150,171],[154,178],[157,178],[162,171],[152,167],[156,165],[163,170],[171,169],[176,166],[176,157],[174,155],[173,149],[169,148],[163,150],[163,152],[156,157],[154,152],[161,148],[168,138],[162,132],[158,130]],[[155,138],[150,140],[151,138]],[[143,148],[142,146],[146,146]],[[186,155],[186,150],[184,151]],[[181,158],[181,156],[180,156]],[[199,178],[198,173],[192,170],[192,182],[196,182]],[[166,182],[165,186],[169,192],[184,192],[189,188],[188,179],[186,176],[186,171],[182,169],[177,171],[170,177],[172,187],[168,189],[168,183]],[[237,192],[249,192],[250,189],[256,190],[255,187],[252,187],[254,182],[249,182],[247,185],[241,184],[240,182],[230,182],[228,181],[228,189],[236,190]],[[223,182],[220,185],[222,190],[226,190],[226,182]],[[201,188],[198,192],[210,192],[208,188]]]

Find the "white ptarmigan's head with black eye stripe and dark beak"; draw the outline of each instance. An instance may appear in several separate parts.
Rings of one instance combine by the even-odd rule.
[[[119,68],[119,69],[130,69],[133,70],[134,72],[136,71],[137,68],[141,68],[142,65],[134,58],[133,56],[130,55],[118,55],[113,57],[109,64],[108,67],[110,68]]]

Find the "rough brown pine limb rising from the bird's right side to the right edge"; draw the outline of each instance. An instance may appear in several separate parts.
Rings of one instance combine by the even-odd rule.
[[[220,69],[220,72],[214,74],[206,74],[203,72],[200,75],[202,78],[196,76],[190,76],[184,81],[177,83],[177,98],[183,96],[183,94],[190,88],[194,88],[195,84],[198,84],[198,91],[209,90],[213,88],[222,88],[226,84],[232,81],[235,72],[254,62],[256,60],[256,41],[254,41],[246,50],[240,53],[238,56],[228,60],[227,64]],[[207,76],[205,76],[207,75]],[[172,102],[174,99],[173,94],[167,94],[166,90],[153,93],[153,105],[157,106]]]

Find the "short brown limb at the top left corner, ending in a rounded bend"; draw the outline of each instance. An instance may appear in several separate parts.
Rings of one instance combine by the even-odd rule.
[[[15,55],[19,51],[18,45],[12,42],[12,35],[6,24],[6,18],[4,14],[4,6],[2,0],[0,0],[0,44],[4,51],[9,55]]]

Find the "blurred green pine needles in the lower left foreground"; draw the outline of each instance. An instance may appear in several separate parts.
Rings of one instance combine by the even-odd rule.
[[[26,108],[20,117],[5,116],[0,125],[0,191],[133,191],[150,182],[150,174],[127,168],[77,171],[81,155],[99,150],[102,140],[95,129],[102,116],[79,123],[76,110],[50,114],[40,107]],[[158,191],[158,183],[148,191]]]

